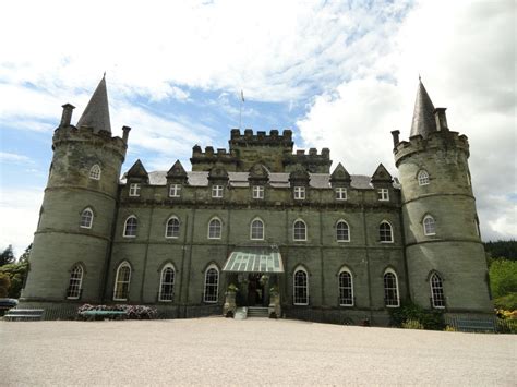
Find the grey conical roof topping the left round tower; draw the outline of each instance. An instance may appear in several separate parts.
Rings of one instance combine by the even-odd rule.
[[[89,99],[83,116],[77,121],[77,128],[89,126],[94,133],[107,131],[111,133],[111,123],[109,121],[108,92],[106,89],[106,76],[103,76],[92,99]]]

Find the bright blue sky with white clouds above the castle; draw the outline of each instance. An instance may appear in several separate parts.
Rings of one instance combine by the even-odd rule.
[[[397,176],[421,75],[469,137],[482,239],[515,239],[515,24],[512,0],[2,2],[0,249],[32,242],[61,105],[75,123],[104,72],[113,135],[132,128],[122,171],[190,169],[241,126],[368,176]]]

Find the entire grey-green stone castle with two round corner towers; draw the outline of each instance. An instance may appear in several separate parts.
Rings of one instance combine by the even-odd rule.
[[[121,177],[130,128],[111,135],[103,78],[76,125],[63,105],[22,303],[51,316],[83,303],[156,306],[164,317],[231,314],[388,324],[412,301],[448,316],[493,311],[465,135],[418,86],[399,180],[330,171],[329,149],[293,153],[292,133],[232,130]],[[237,289],[236,289],[237,288]],[[228,291],[229,290],[229,291]]]

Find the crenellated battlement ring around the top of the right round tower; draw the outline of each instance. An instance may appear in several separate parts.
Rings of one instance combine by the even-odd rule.
[[[396,134],[398,140],[398,134]],[[394,134],[395,138],[395,134]],[[401,159],[420,152],[431,149],[458,149],[469,156],[469,141],[465,134],[452,131],[437,131],[430,133],[428,138],[421,135],[409,137],[409,141],[396,142],[393,153],[395,155],[395,164],[398,166]]]

